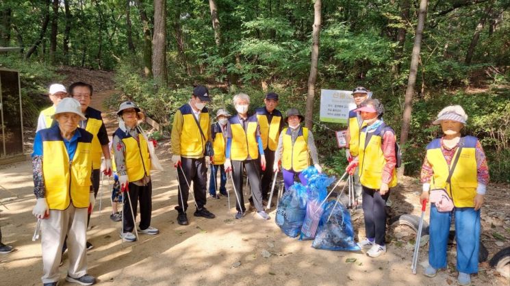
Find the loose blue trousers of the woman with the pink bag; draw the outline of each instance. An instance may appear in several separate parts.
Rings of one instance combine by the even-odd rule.
[[[472,207],[455,208],[439,212],[431,204],[429,264],[435,268],[446,268],[446,247],[452,213],[455,211],[455,240],[457,241],[457,270],[474,274],[478,272],[480,246],[480,210]]]

